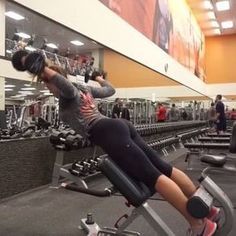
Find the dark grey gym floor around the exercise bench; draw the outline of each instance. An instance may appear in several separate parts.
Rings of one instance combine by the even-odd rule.
[[[200,170],[186,171],[183,156],[172,163],[185,170],[193,180],[200,174]],[[236,205],[235,176],[214,174],[211,177]],[[101,177],[91,182],[89,186],[104,189],[110,184]],[[120,216],[131,211],[124,203],[125,199],[121,196],[98,198],[43,186],[0,202],[0,235],[84,236],[86,234],[78,229],[78,226],[80,219],[86,217],[87,213],[93,213],[94,220],[100,226],[112,227]],[[171,205],[160,200],[149,200],[149,204],[176,236],[186,234],[187,222]],[[144,236],[157,235],[142,217],[134,221],[129,229],[138,231]],[[236,225],[229,236],[234,236],[235,233]]]

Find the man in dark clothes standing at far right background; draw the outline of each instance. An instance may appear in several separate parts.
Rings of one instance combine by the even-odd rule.
[[[221,101],[222,95],[216,96],[216,132],[222,134],[226,131],[225,105]]]

